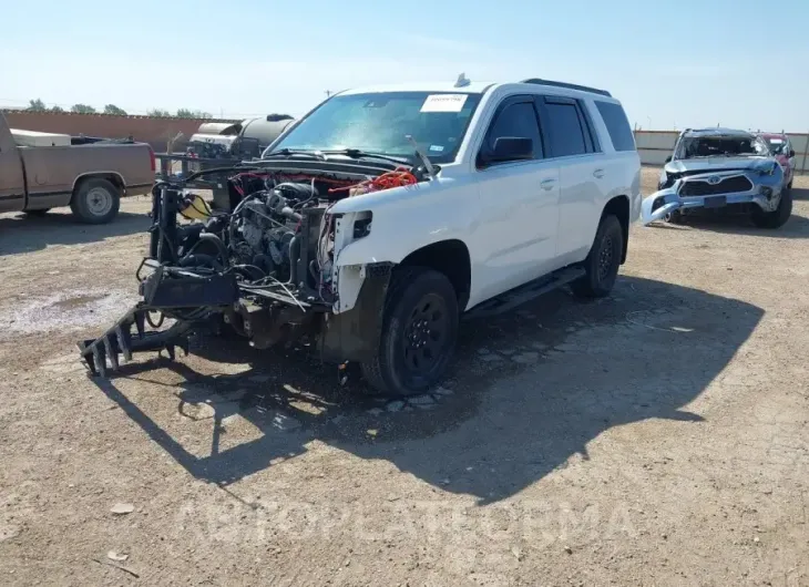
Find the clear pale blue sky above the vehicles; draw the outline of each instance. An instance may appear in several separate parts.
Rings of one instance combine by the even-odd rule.
[[[809,131],[809,1],[3,2],[0,106],[246,117],[371,83],[610,90],[644,128]]]

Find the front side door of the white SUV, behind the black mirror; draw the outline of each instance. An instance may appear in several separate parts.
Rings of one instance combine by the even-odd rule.
[[[544,157],[533,95],[510,96],[498,105],[480,152],[504,136],[531,138],[533,158],[478,166],[481,212],[474,243],[484,251],[481,299],[543,275],[556,249],[559,168]]]

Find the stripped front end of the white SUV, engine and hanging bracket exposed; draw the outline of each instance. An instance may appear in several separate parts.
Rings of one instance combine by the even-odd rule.
[[[309,343],[329,362],[369,357],[392,264],[340,264],[340,250],[370,234],[372,213],[331,208],[429,177],[383,162],[260,162],[233,169],[232,213],[212,210],[185,183],[158,183],[149,256],[136,271],[143,299],[80,341],[81,357],[103,377],[136,352],[173,359],[176,348],[187,353],[193,333],[222,329],[259,349]]]

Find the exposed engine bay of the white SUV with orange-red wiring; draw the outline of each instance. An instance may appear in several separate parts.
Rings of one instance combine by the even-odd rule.
[[[309,301],[332,303],[335,202],[368,192],[418,182],[398,167],[361,182],[330,175],[287,175],[265,171],[235,174],[228,179],[237,200],[232,213],[212,210],[205,202],[184,194],[178,214],[192,224],[177,227],[176,258],[181,267],[232,271],[239,284],[273,289]],[[155,210],[158,213],[160,210]],[[363,236],[371,216],[355,222],[355,237]],[[158,257],[157,250],[153,254]]]

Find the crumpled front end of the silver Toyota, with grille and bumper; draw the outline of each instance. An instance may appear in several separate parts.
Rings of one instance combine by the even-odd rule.
[[[776,161],[749,168],[718,169],[685,176],[666,174],[660,189],[644,198],[641,217],[644,225],[669,219],[676,214],[728,206],[757,206],[764,213],[778,208],[784,189],[784,169]]]

